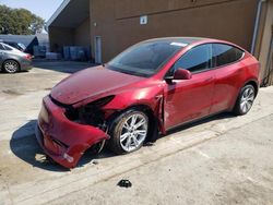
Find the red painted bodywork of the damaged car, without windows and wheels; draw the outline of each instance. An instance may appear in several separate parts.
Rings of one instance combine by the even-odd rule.
[[[105,122],[108,123],[129,108],[141,106],[153,113],[159,131],[165,134],[179,124],[232,110],[241,87],[247,83],[252,83],[258,89],[260,64],[249,52],[223,40],[187,40],[186,46],[151,77],[112,71],[106,64],[78,72],[55,86],[50,96],[44,99],[45,108],[40,111],[36,134],[46,154],[71,168],[76,166],[86,148],[110,137],[99,125],[81,124],[68,119],[64,113],[67,107],[79,110],[110,97],[99,107]],[[192,73],[190,80],[165,80],[173,64],[187,51],[199,45],[215,43],[237,47],[244,50],[245,56],[238,62]],[[66,144],[67,148],[60,149],[55,141]],[[63,154],[69,157],[63,157]],[[68,161],[70,157],[73,158],[72,162]]]

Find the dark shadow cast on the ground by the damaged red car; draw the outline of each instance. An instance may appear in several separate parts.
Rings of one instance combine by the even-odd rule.
[[[176,132],[180,132],[187,129],[191,129],[193,126],[197,126],[206,122],[228,119],[228,118],[234,118],[234,117],[235,116],[232,113],[221,113],[221,114],[213,116],[203,120],[199,120],[197,122],[192,122],[192,123],[178,126],[176,129],[168,131],[166,135],[174,134]],[[36,123],[37,123],[36,120],[32,120],[13,132],[12,138],[10,141],[10,148],[12,153],[15,156],[17,156],[20,159],[32,165],[33,167],[37,167],[37,168],[48,170],[48,171],[58,171],[58,172],[70,171],[70,169],[63,168],[60,165],[55,164],[51,160],[48,160],[48,158],[44,154],[43,149],[38,145],[36,137],[35,137]],[[166,135],[161,135],[159,138]],[[152,145],[153,144],[146,143],[144,146],[152,146]],[[95,164],[96,159],[110,158],[110,157],[115,157],[115,154],[112,154],[106,148],[104,148],[104,150],[98,155],[94,154],[92,149],[88,149],[85,152],[85,154],[79,161],[78,167],[84,167],[85,165],[90,162]]]

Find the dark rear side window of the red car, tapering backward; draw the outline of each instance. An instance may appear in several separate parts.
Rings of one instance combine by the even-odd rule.
[[[244,56],[244,51],[225,44],[213,44],[213,61],[216,67],[230,64],[238,61]]]

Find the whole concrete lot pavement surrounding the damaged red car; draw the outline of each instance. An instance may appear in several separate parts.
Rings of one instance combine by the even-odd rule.
[[[66,76],[50,63],[0,74],[1,205],[272,204],[273,87],[260,91],[247,116],[183,126],[131,155],[87,153],[66,170],[45,160],[34,136],[41,98]],[[117,186],[121,179],[132,188]]]

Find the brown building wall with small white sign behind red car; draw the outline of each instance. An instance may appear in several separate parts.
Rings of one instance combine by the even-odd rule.
[[[221,38],[250,50],[258,0],[91,0],[90,4],[91,43],[102,37],[106,62],[138,41],[166,36]],[[146,25],[140,25],[141,15],[149,16]]]

